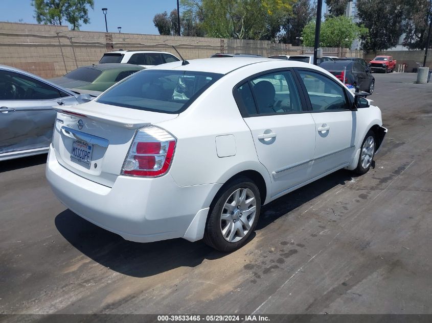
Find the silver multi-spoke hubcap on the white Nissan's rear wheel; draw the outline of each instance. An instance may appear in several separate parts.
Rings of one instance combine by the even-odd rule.
[[[257,202],[248,188],[235,190],[226,200],[220,215],[220,231],[228,242],[243,239],[254,223]]]

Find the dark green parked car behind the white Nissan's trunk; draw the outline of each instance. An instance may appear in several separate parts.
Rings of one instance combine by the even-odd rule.
[[[110,86],[129,75],[144,69],[132,64],[99,64],[82,66],[65,74],[65,76],[50,81],[76,91],[89,90],[102,93]]]

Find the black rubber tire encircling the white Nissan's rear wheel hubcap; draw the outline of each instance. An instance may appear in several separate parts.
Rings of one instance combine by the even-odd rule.
[[[229,242],[222,236],[221,219],[222,211],[224,210],[224,205],[231,197],[231,195],[238,189],[249,189],[255,195],[255,218],[251,224],[251,228],[240,238],[239,241]],[[254,232],[255,227],[258,222],[258,218],[261,211],[261,196],[257,185],[247,177],[239,177],[228,183],[225,183],[219,193],[215,196],[209,211],[209,216],[207,217],[206,228],[204,230],[203,241],[207,245],[213,247],[221,252],[233,252],[247,243],[249,237],[251,237],[252,232]],[[244,219],[244,217],[243,217]],[[239,221],[239,219],[237,219]],[[234,220],[235,222],[235,220]],[[240,224],[242,222],[239,222]],[[235,233],[237,234],[237,233]]]

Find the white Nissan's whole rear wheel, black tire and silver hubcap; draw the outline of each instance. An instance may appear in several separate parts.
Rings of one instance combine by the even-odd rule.
[[[227,184],[210,207],[203,240],[222,252],[242,247],[254,232],[261,209],[257,185],[246,177]]]

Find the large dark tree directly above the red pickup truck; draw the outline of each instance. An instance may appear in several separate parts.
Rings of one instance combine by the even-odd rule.
[[[369,35],[361,36],[365,52],[376,53],[398,44],[403,32],[403,1],[357,0],[358,17],[369,29]]]

